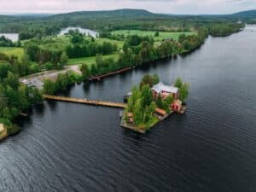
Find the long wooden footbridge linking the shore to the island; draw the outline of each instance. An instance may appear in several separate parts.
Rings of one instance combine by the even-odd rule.
[[[103,102],[103,101],[88,100],[88,99],[81,99],[81,98],[67,97],[67,96],[44,95],[44,99],[60,101],[60,102],[82,103],[87,105],[103,106],[108,108],[125,108],[126,107],[126,104],[121,102]]]

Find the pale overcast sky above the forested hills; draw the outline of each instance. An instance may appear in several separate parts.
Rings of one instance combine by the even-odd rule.
[[[124,8],[166,14],[230,14],[256,9],[256,0],[0,0],[0,14]]]

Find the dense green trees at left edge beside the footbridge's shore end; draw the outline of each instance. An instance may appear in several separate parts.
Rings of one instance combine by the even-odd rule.
[[[3,61],[4,60],[4,61]],[[0,122],[7,125],[8,133],[18,131],[12,126],[12,119],[20,111],[43,101],[41,92],[34,87],[21,84],[20,74],[25,74],[26,63],[15,61],[9,63],[8,57],[0,55]]]

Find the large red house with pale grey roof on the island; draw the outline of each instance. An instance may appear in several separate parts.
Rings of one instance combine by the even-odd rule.
[[[162,98],[166,98],[167,96],[173,96],[174,99],[178,98],[178,88],[170,85],[166,85],[163,83],[154,84],[151,89],[153,91],[154,98],[157,96],[161,96]]]

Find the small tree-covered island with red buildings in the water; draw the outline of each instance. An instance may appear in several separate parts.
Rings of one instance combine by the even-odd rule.
[[[146,133],[154,125],[166,119],[172,113],[183,114],[185,100],[189,95],[189,84],[176,79],[175,84],[160,82],[159,77],[146,75],[139,86],[132,88],[125,96],[127,107],[121,119],[121,126]]]

